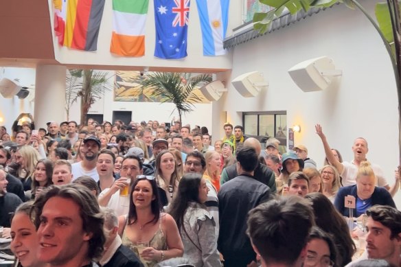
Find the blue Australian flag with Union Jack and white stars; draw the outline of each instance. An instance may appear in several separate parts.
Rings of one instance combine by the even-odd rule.
[[[178,59],[187,56],[190,0],[154,0],[156,45],[154,56]]]

